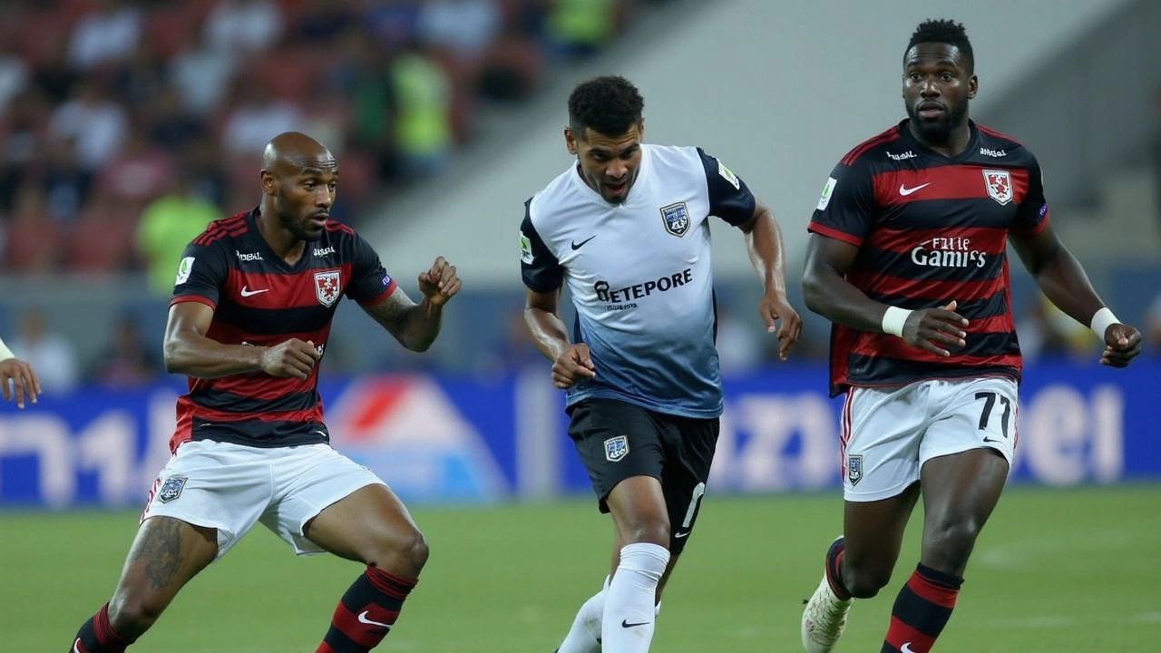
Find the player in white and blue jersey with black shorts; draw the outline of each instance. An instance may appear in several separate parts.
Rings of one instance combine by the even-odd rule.
[[[711,215],[737,227],[764,286],[758,313],[785,359],[802,329],[786,300],[773,214],[699,148],[642,144],[644,100],[600,77],[569,98],[576,162],[525,203],[525,317],[567,395],[569,436],[613,518],[612,573],[560,653],[643,653],[698,516],[722,412]],[[560,316],[567,284],[576,307]]]

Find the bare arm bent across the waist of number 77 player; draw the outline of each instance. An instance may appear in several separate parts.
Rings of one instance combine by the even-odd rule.
[[[846,281],[858,247],[837,238],[812,234],[807,241],[802,293],[807,307],[831,322],[871,332],[887,332],[884,316],[892,307],[867,297]],[[937,356],[951,356],[947,347],[961,347],[968,325],[956,313],[956,301],[938,308],[911,311],[903,324],[903,340]]]

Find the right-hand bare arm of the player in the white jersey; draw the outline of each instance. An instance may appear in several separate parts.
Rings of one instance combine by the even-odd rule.
[[[745,249],[765,289],[758,302],[758,315],[771,333],[774,332],[774,321],[783,321],[778,328],[778,357],[786,360],[802,335],[802,318],[786,299],[786,251],[781,228],[773,211],[762,202],[755,203],[753,217],[738,228],[745,235]]]

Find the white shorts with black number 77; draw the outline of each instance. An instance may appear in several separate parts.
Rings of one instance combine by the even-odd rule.
[[[843,496],[896,496],[920,480],[928,460],[972,449],[994,449],[1011,465],[1016,401],[1016,381],[1007,376],[851,388],[843,406]]]

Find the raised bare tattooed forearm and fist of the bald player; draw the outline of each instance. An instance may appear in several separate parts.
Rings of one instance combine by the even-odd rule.
[[[430,270],[419,273],[424,299],[418,304],[402,288],[396,288],[389,297],[363,310],[404,347],[427,351],[439,336],[444,304],[460,292],[460,286],[455,266],[439,257]]]

